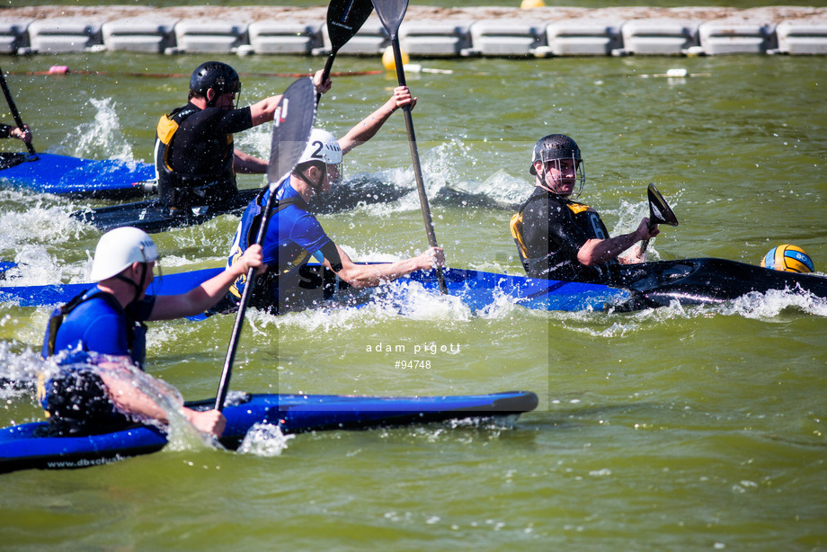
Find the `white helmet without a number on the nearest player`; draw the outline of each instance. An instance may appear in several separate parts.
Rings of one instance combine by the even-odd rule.
[[[92,261],[93,281],[106,280],[123,272],[132,263],[158,260],[158,248],[152,238],[138,228],[120,227],[110,230],[98,241]]]

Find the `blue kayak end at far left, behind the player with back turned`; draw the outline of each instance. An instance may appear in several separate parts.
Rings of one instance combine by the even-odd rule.
[[[155,178],[146,163],[94,160],[24,153],[2,154],[0,184],[42,193],[121,199],[146,192],[141,183]]]

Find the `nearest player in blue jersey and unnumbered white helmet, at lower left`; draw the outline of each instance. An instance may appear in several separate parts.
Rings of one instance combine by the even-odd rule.
[[[92,262],[96,286],[59,307],[49,318],[44,358],[72,364],[41,378],[38,396],[54,435],[90,435],[125,429],[138,420],[168,423],[166,414],[130,378],[116,377],[122,363],[143,369],[147,320],[198,315],[227,293],[250,268],[262,267],[262,250],[251,246],[238,263],[180,295],[147,295],[158,260],[155,243],[143,230],[120,227],[101,236]],[[263,267],[260,269],[263,270]],[[78,369],[76,352],[107,355],[95,369]],[[216,410],[183,409],[201,432],[220,436],[226,420]]]

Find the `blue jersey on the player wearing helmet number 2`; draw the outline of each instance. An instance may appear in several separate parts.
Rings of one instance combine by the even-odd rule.
[[[298,289],[307,289],[301,269],[312,258],[325,260],[324,249],[331,263],[339,263],[333,240],[325,234],[319,221],[309,211],[307,202],[289,184],[289,177],[275,191],[279,205],[273,209],[271,221],[264,236],[262,254],[268,264],[267,274],[257,283],[253,295],[253,307],[273,312],[284,310],[290,295]],[[270,190],[264,190],[247,206],[236,230],[236,237],[227,259],[227,266],[244,254],[255,243],[261,223],[262,211],[267,204]],[[241,298],[245,289],[246,275],[240,276],[230,288],[230,294]]]

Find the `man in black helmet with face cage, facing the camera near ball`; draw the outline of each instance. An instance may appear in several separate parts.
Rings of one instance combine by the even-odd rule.
[[[529,173],[534,176],[534,192],[511,218],[511,236],[529,277],[605,282],[609,265],[644,260],[639,247],[621,254],[657,236],[657,227],[646,226],[648,218],[634,232],[611,237],[596,210],[569,199],[580,195],[586,180],[580,147],[572,138],[564,134],[540,138]]]

